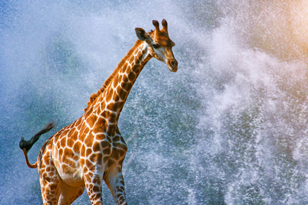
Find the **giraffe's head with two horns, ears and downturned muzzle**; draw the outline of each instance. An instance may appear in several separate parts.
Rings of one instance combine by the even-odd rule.
[[[149,44],[149,53],[152,57],[164,62],[172,72],[177,72],[177,60],[172,52],[175,43],[169,38],[167,21],[162,20],[162,30],[159,30],[157,20],[153,20],[153,25],[155,31],[149,33],[142,28],[136,28],[137,37]]]

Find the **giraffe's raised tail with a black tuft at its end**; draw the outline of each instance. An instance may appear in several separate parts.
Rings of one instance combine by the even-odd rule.
[[[25,161],[26,161],[28,167],[30,167],[32,169],[36,168],[36,167],[38,167],[38,163],[36,162],[33,165],[31,163],[29,163],[27,152],[31,149],[31,147],[34,145],[34,143],[36,143],[36,141],[38,141],[38,139],[40,138],[40,135],[49,132],[54,126],[55,126],[55,124],[53,124],[53,122],[47,124],[46,126],[44,126],[44,128],[42,128],[41,131],[36,133],[28,141],[25,141],[25,139],[23,137],[21,138],[21,142],[19,142],[19,147],[21,148],[21,150],[23,150],[23,154],[25,154]]]

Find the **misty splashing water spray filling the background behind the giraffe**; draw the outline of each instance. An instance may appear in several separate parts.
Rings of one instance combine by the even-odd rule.
[[[308,5],[287,2],[1,1],[0,204],[42,203],[19,140],[79,118],[162,18],[179,70],[152,59],[120,116],[129,204],[308,204]]]

